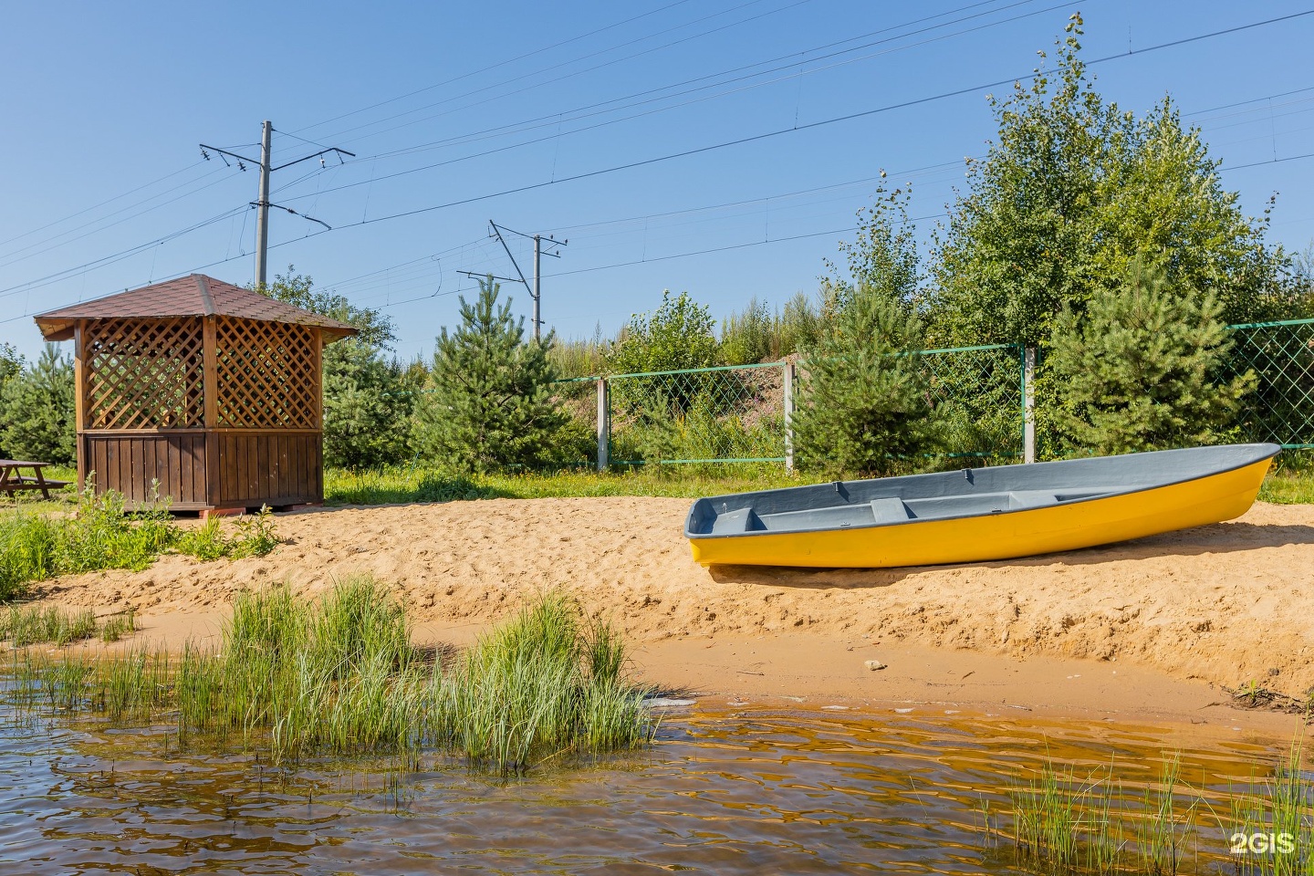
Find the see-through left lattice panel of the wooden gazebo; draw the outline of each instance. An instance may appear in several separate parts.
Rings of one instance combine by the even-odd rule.
[[[201,320],[97,319],[83,334],[85,427],[204,424]]]

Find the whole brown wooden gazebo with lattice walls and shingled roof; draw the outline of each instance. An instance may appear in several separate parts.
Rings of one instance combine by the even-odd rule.
[[[351,326],[202,274],[35,318],[75,343],[78,483],[202,514],[323,500],[326,343]]]

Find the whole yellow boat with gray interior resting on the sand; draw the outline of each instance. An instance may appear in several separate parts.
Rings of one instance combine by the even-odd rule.
[[[884,567],[1008,559],[1246,514],[1276,444],[1000,465],[699,499],[704,566]]]

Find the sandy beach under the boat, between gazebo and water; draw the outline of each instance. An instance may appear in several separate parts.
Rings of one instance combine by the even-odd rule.
[[[897,570],[712,567],[691,559],[685,499],[493,499],[279,515],[272,554],[45,582],[138,641],[217,634],[234,592],[336,577],[390,582],[417,638],[461,645],[545,588],[632,642],[645,680],[702,696],[922,703],[1281,729],[1227,705],[1256,680],[1314,686],[1314,507],[1009,562]],[[872,670],[869,661],[884,663]]]

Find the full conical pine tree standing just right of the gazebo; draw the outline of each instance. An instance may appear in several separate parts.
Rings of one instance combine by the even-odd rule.
[[[418,443],[432,458],[464,471],[549,461],[568,416],[553,401],[548,361],[553,336],[526,340],[524,319],[498,305],[497,282],[460,299],[461,326],[438,338],[432,391],[423,397]]]

